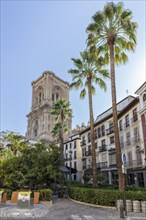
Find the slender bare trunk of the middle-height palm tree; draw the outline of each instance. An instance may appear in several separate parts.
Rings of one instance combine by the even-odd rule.
[[[92,145],[93,188],[96,188],[97,187],[97,169],[96,169],[96,152],[95,152],[95,135],[94,135],[94,119],[93,119],[91,78],[88,78],[88,97],[89,97],[90,129],[91,129],[91,145]]]

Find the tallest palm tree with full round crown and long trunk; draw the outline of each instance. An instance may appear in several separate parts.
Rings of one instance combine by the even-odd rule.
[[[115,85],[115,63],[126,63],[128,56],[126,51],[134,51],[136,46],[137,23],[133,22],[132,12],[124,10],[123,3],[107,3],[103,11],[98,11],[92,17],[93,23],[87,27],[88,46],[96,45],[103,52],[106,63],[110,63],[112,110],[114,135],[116,146],[116,160],[119,177],[119,189],[124,190],[124,178],[122,175],[122,158],[119,144],[116,85]]]

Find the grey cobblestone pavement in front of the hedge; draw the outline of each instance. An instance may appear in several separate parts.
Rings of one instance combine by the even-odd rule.
[[[0,220],[120,220],[119,211],[90,207],[67,199],[50,205],[34,205],[31,209],[17,209],[16,204],[0,208]],[[146,220],[144,213],[128,213],[126,220]]]

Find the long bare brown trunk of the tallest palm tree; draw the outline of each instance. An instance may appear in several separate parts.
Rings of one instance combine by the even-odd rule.
[[[116,163],[118,169],[119,190],[124,190],[124,180],[122,174],[122,157],[119,141],[118,118],[117,118],[117,101],[116,101],[116,85],[115,85],[115,60],[114,60],[114,45],[109,44],[110,48],[110,73],[111,73],[111,92],[112,92],[112,110],[113,110],[113,124],[116,147]]]

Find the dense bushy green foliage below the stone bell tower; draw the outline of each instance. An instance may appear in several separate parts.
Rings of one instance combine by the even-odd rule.
[[[13,135],[11,135],[10,146],[11,149],[14,149],[16,147],[14,145],[17,145],[17,154],[16,150],[11,153],[11,149],[3,149],[0,158],[1,187],[18,189],[28,185],[30,188],[34,188],[38,184],[48,185],[49,182],[60,177],[57,145],[52,143],[44,146],[40,142],[32,145],[24,141],[23,137],[18,138],[17,142],[16,140],[13,142],[13,138],[15,138]],[[22,147],[23,142],[25,147]],[[7,153],[8,155],[6,155]]]

